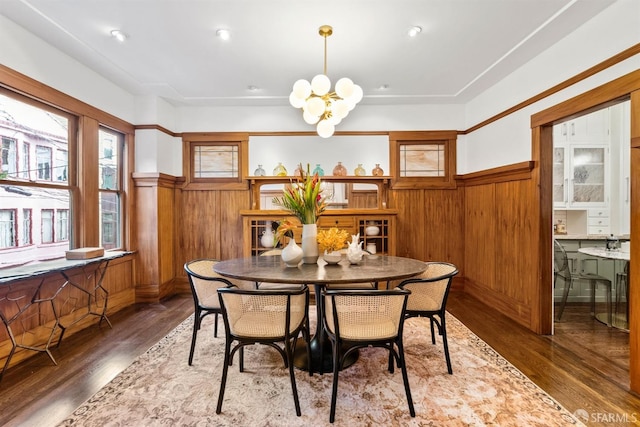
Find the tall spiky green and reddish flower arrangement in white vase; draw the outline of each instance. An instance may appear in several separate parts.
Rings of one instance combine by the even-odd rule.
[[[291,180],[281,197],[273,198],[273,204],[291,212],[302,224],[315,224],[327,207],[326,198],[322,194],[320,177],[317,173],[311,174],[309,164],[306,172],[302,167],[300,170],[301,175],[295,181]]]

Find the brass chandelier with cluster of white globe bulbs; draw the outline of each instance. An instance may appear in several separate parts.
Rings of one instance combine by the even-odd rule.
[[[324,72],[315,76],[311,83],[304,79],[296,81],[289,95],[289,102],[296,108],[302,108],[302,118],[310,125],[316,125],[319,136],[329,138],[336,125],[362,100],[363,93],[362,88],[347,77],[338,80],[335,91],[330,91],[331,80],[327,77],[327,37],[333,34],[333,28],[323,25],[319,33],[324,38]]]

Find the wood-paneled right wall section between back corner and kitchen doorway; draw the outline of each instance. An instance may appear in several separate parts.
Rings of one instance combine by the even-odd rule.
[[[539,329],[537,185],[533,164],[464,182],[465,291],[529,329]]]

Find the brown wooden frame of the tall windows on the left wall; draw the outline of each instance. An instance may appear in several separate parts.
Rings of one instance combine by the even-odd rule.
[[[97,176],[97,141],[99,125],[114,129],[124,135],[124,153],[122,156],[124,177],[120,200],[122,236],[120,250],[135,250],[136,224],[135,206],[130,193],[134,188],[131,172],[134,170],[134,140],[136,128],[129,122],[119,119],[112,114],[86,104],[72,96],[42,85],[40,82],[21,74],[8,67],[0,65],[0,94],[31,104],[45,111],[63,115],[70,119],[68,132],[68,182],[37,181],[21,177],[16,180],[0,178],[0,184],[19,185],[25,187],[40,187],[44,189],[63,189],[69,192],[70,202],[70,240],[69,248],[94,247],[99,244],[98,176]],[[35,156],[35,147],[32,146]],[[34,168],[35,158],[31,158],[31,169]],[[79,173],[80,172],[80,173]],[[29,178],[35,178],[31,174]],[[35,212],[34,212],[35,215]],[[33,233],[38,225],[33,221]],[[32,233],[32,245],[37,238]],[[64,252],[62,252],[64,257]]]

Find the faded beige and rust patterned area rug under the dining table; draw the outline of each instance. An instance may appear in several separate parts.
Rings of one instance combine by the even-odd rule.
[[[212,316],[187,364],[193,318],[136,359],[78,407],[62,426],[319,426],[329,424],[332,374],[296,370],[297,417],[288,371],[275,350],[251,346],[245,372],[229,369],[222,413],[216,403],[224,328],[213,337]],[[311,318],[315,319],[312,313]],[[207,323],[207,320],[210,320]],[[405,355],[416,417],[409,415],[402,374],[387,371],[387,352],[367,348],[340,373],[336,426],[582,425],[518,369],[447,314],[453,375],[442,341],[431,344],[427,319],[405,323]]]

